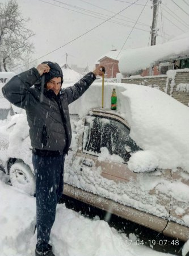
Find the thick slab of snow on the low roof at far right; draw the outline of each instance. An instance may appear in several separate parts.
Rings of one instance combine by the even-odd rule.
[[[174,60],[178,57],[189,55],[189,32],[177,36],[169,42],[156,46],[127,49],[122,52],[119,59],[119,71],[122,75],[135,75],[141,69],[149,68],[150,65],[159,61]]]

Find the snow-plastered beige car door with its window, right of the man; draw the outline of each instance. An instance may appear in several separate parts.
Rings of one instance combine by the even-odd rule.
[[[115,114],[94,111],[87,116],[72,181],[75,187],[167,219],[171,197],[163,188],[170,170],[130,171],[128,160],[141,149],[129,133],[127,122]]]

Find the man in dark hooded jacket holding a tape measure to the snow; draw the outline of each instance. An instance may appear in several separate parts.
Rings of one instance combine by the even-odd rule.
[[[73,86],[61,89],[62,69],[45,61],[12,77],[2,88],[7,100],[26,109],[30,126],[36,177],[36,255],[54,255],[48,242],[63,191],[65,154],[72,139],[68,105],[89,88],[96,75],[103,75],[101,70],[100,66]]]

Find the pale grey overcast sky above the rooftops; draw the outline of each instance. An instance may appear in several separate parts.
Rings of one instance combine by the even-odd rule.
[[[69,65],[77,64],[78,67],[85,68],[89,64],[90,70],[104,53],[111,49],[121,49],[125,40],[127,42],[123,49],[148,46],[153,9],[150,8],[152,1],[148,0],[147,4],[146,1],[17,0],[24,18],[31,18],[27,27],[36,34],[32,38],[35,44],[33,59],[64,46],[127,7],[114,19],[36,61],[37,64],[44,60],[65,64],[65,54],[68,53]],[[1,0],[1,3],[5,2],[6,0]],[[136,3],[131,5],[134,2]],[[177,16],[174,18],[170,14]],[[136,27],[128,38],[137,19]],[[158,28],[157,44],[189,31],[189,1],[162,0],[162,5],[159,5]]]

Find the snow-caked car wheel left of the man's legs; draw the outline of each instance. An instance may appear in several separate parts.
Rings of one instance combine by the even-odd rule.
[[[15,188],[19,188],[29,195],[35,193],[35,176],[27,164],[23,162],[16,162],[10,168],[11,184]]]

